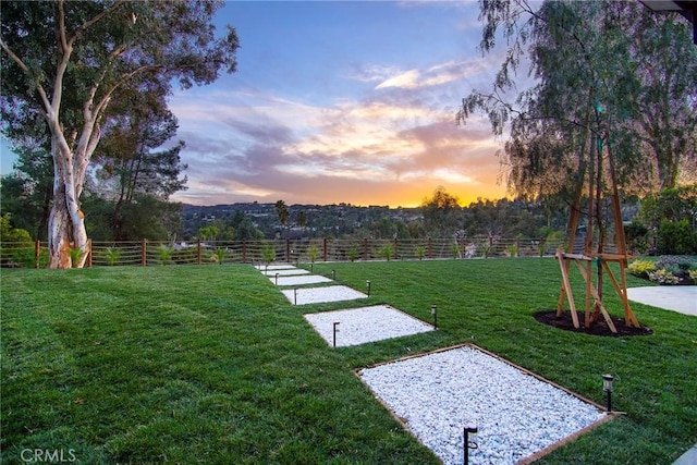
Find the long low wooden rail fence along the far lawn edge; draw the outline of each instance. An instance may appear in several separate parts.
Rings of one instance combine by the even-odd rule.
[[[193,243],[90,242],[87,267],[461,259],[553,255],[560,242],[539,238],[277,240]],[[42,268],[46,244],[2,243],[2,267]]]

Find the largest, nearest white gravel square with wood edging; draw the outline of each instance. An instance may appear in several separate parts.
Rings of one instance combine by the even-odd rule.
[[[476,425],[472,464],[514,464],[606,414],[477,348],[462,346],[358,371],[444,464],[463,463],[463,428]]]

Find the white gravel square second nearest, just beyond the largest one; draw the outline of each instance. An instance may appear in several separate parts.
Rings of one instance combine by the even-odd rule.
[[[337,326],[338,347],[433,330],[431,325],[388,305],[307,314],[304,317],[332,346],[334,345],[333,325],[339,322]]]

